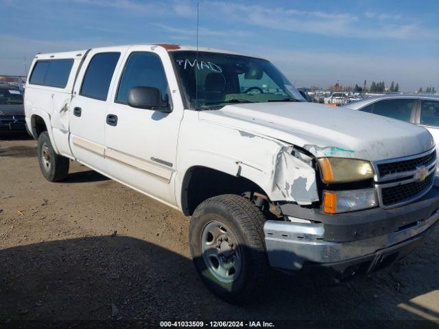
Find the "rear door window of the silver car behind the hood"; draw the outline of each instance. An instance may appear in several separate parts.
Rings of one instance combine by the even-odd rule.
[[[383,99],[373,104],[373,114],[383,115],[401,121],[410,122],[412,109],[417,99]]]

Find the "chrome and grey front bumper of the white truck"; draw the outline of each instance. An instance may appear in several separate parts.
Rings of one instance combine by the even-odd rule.
[[[292,216],[291,210],[289,208],[289,216]],[[299,213],[301,216],[296,218],[307,219],[305,212]],[[413,204],[390,210],[375,208],[375,218],[368,217],[370,210],[352,212],[351,216],[353,214],[350,222],[346,214],[324,215],[329,217],[326,223],[266,221],[265,245],[270,265],[285,270],[321,265],[344,271],[359,263],[372,266],[389,252],[393,260],[401,258],[422,242],[439,222],[439,188],[432,188]],[[314,218],[313,215],[308,217]],[[361,217],[363,220],[358,220]],[[328,235],[327,230],[331,234]],[[372,232],[384,233],[370,236]],[[355,235],[363,239],[355,239]]]

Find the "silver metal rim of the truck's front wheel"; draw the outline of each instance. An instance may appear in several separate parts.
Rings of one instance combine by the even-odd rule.
[[[237,239],[219,221],[211,221],[202,230],[201,249],[204,263],[217,280],[230,283],[241,273],[242,259]]]

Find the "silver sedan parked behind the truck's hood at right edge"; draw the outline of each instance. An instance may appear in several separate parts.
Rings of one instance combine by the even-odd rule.
[[[381,95],[348,103],[345,108],[382,115],[427,128],[439,145],[439,96]],[[439,171],[436,171],[436,176]]]

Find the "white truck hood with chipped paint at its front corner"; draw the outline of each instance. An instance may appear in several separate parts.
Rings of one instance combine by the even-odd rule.
[[[412,156],[434,147],[431,134],[423,127],[316,103],[237,104],[200,111],[199,118],[276,138],[317,157],[376,161]]]

